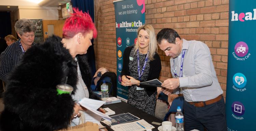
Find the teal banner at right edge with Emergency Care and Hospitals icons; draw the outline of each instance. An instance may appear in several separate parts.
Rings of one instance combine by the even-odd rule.
[[[228,131],[255,131],[256,1],[229,1]]]

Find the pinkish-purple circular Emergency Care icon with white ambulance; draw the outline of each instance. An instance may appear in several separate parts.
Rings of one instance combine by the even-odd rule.
[[[243,41],[237,42],[234,48],[234,52],[239,57],[244,57],[245,55],[247,55],[248,50],[248,45]]]

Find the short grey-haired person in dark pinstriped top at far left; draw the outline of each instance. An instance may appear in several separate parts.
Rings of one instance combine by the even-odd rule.
[[[19,64],[20,57],[34,44],[34,33],[37,29],[29,19],[16,21],[14,27],[20,38],[8,46],[0,56],[0,79],[6,84],[9,73]]]

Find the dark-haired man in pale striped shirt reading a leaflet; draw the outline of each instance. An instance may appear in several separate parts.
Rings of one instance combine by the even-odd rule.
[[[184,96],[184,128],[227,130],[225,102],[208,46],[200,41],[181,39],[173,29],[157,34],[159,48],[170,56],[172,78],[161,85],[165,94]]]

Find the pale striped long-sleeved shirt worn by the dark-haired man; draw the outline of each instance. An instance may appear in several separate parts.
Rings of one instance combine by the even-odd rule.
[[[213,66],[212,57],[208,46],[196,40],[183,39],[182,50],[186,50],[183,62],[183,77],[180,75],[181,54],[170,59],[173,78],[179,78],[180,87],[186,101],[206,101],[223,94]],[[178,92],[175,90],[174,92]]]

